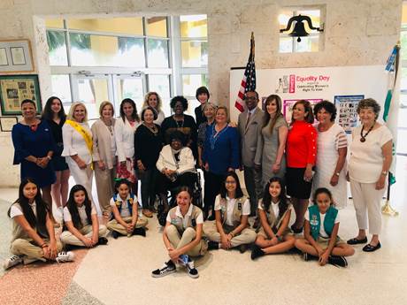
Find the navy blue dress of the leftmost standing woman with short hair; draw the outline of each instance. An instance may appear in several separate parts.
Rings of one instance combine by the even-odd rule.
[[[27,156],[47,156],[49,151],[56,150],[50,126],[45,120],[41,121],[35,131],[30,126],[20,123],[12,126],[12,143],[14,145],[12,164],[21,164],[21,180],[28,177],[35,179],[38,187],[48,187],[55,182],[56,175],[51,163],[43,169],[25,159]]]

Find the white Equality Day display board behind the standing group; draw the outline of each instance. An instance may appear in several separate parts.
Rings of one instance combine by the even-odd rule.
[[[243,69],[230,71],[229,105],[231,119],[235,122],[240,112],[234,107],[234,102],[243,72]],[[336,122],[348,132],[358,122],[358,101],[372,97],[383,105],[388,85],[384,65],[259,69],[256,76],[260,100],[265,101],[268,95],[280,95],[288,121],[292,105],[297,100],[306,99],[312,104],[328,100],[337,107]]]

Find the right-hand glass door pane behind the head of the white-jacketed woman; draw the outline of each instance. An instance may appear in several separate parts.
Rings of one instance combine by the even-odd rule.
[[[119,117],[120,103],[125,98],[131,98],[136,107],[137,112],[142,112],[142,104],[144,103],[144,95],[146,94],[145,75],[134,74],[113,74],[112,84],[114,88],[114,99],[116,117]]]

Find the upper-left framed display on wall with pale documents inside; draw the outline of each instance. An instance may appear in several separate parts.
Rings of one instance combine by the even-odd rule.
[[[0,41],[0,73],[33,71],[33,55],[29,40]]]

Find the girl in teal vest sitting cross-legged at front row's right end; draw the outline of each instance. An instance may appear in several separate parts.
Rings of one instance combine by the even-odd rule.
[[[331,263],[346,267],[344,256],[353,255],[355,250],[338,236],[339,213],[331,192],[325,187],[318,188],[313,202],[305,213],[305,238],[296,240],[296,248],[303,251],[305,261],[314,257],[321,266]]]

